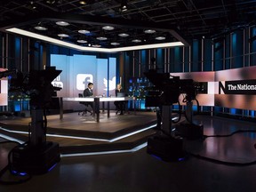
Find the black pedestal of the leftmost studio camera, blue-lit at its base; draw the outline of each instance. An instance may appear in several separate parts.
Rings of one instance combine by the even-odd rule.
[[[43,174],[60,162],[59,144],[46,141],[43,109],[32,109],[31,139],[12,148],[12,171]]]

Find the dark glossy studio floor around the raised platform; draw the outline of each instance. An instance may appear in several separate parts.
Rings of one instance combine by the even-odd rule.
[[[252,132],[184,140],[187,152],[212,161],[190,155],[181,162],[164,162],[148,155],[146,148],[132,153],[62,157],[52,171],[35,175],[21,184],[0,185],[0,191],[256,191],[256,164],[247,164],[256,160],[256,124],[211,116],[196,116],[195,123],[204,124],[207,136],[237,130]],[[1,144],[1,169],[7,164],[7,154],[12,147],[13,144]],[[7,175],[4,179],[13,180],[13,176]]]

